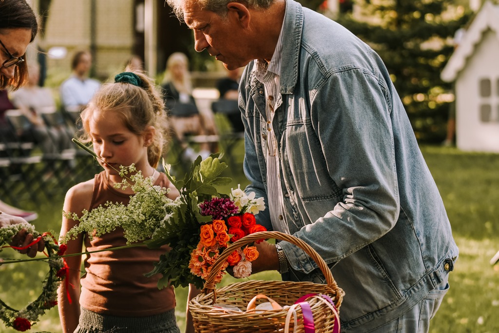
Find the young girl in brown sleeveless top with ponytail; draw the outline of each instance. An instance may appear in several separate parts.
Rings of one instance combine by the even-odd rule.
[[[130,70],[127,68],[126,70]],[[107,201],[128,204],[133,192],[118,190],[120,165],[135,164],[154,185],[169,187],[168,197],[179,193],[166,175],[156,171],[163,146],[164,104],[152,81],[140,72],[125,72],[107,83],[81,113],[82,140],[91,141],[104,171],[94,179],[73,186],[66,194],[64,211],[90,211]],[[81,215],[81,214],[80,214]],[[61,235],[77,222],[63,218]],[[125,245],[123,230],[115,230],[92,241],[85,235],[67,243],[67,254]],[[59,288],[59,315],[64,333],[98,332],[180,332],[175,320],[175,295],[172,287],[159,290],[159,277],[147,278],[152,263],[165,248],[135,247],[104,251],[86,256],[86,274],[80,278],[81,257],[68,257],[69,283]],[[80,291],[81,285],[81,291]],[[72,304],[66,293],[69,293]]]

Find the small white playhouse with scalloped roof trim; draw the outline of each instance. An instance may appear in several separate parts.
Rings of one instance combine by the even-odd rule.
[[[441,77],[455,81],[457,147],[499,152],[499,5],[482,6]]]

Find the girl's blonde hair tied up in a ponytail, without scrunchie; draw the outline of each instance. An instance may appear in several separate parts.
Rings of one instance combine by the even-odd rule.
[[[132,70],[141,79],[141,87],[125,82],[108,82],[92,97],[88,106],[81,112],[84,133],[81,140],[89,142],[89,122],[94,111],[115,111],[123,124],[134,134],[142,135],[148,126],[154,126],[156,133],[147,148],[147,160],[156,168],[162,156],[166,141],[167,118],[163,98],[156,89],[154,81],[142,71]]]

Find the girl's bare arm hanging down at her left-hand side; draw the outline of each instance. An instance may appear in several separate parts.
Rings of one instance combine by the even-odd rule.
[[[76,213],[81,216],[83,209],[89,209],[92,198],[93,179],[73,186],[66,193],[64,199],[64,212]],[[63,236],[78,222],[62,218],[62,227],[60,235]],[[83,235],[80,234],[77,239],[67,242],[65,254],[82,252]],[[58,290],[57,306],[59,308],[59,318],[63,333],[72,333],[78,326],[80,317],[80,275],[81,275],[81,256],[67,257],[66,263],[69,267],[68,289],[66,283],[61,283]],[[71,298],[69,304],[68,295]]]

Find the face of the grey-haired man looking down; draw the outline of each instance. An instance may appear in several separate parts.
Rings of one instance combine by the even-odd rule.
[[[245,40],[245,31],[237,15],[221,17],[217,13],[202,9],[197,1],[184,2],[184,20],[194,31],[194,48],[204,49],[222,61],[226,68],[246,66],[253,57]]]

